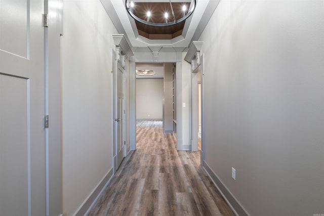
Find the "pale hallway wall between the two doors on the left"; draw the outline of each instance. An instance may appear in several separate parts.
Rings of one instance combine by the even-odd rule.
[[[65,0],[63,7],[62,191],[70,216],[112,168],[111,34],[117,32],[99,0]]]

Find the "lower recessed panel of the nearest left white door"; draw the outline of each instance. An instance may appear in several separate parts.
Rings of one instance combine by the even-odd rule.
[[[0,209],[3,215],[28,215],[28,88],[27,79],[0,74]]]

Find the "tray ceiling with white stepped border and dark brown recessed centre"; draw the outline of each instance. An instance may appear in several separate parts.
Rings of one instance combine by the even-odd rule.
[[[173,50],[182,52],[189,47],[193,40],[198,40],[220,0],[196,0],[196,8],[193,14],[183,23],[180,23],[181,25],[170,29],[138,25],[128,14],[125,0],[100,1],[118,33],[125,34],[133,52],[150,52],[149,46],[160,46],[162,48],[160,52],[173,52]],[[160,4],[157,8],[163,8],[166,4],[170,5],[169,0],[136,0],[136,4],[146,4],[146,6],[141,6],[143,11],[152,2]],[[172,4],[183,4],[183,2],[189,4],[190,0],[172,0]],[[157,9],[156,11],[158,12]]]

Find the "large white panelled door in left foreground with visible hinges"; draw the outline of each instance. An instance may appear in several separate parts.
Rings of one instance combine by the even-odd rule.
[[[46,215],[44,0],[0,0],[0,214]]]

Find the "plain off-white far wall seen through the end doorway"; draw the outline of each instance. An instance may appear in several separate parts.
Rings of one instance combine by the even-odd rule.
[[[162,120],[163,78],[136,79],[136,119]]]

